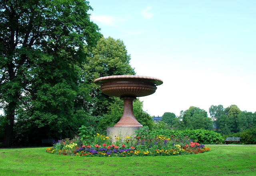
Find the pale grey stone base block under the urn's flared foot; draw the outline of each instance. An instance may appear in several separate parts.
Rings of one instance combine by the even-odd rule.
[[[134,131],[140,129],[141,127],[107,127],[107,137],[112,139],[113,143],[116,142],[116,137],[120,137],[123,140],[126,136],[131,138],[135,136]]]

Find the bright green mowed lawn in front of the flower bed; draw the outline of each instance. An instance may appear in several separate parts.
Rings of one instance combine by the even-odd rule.
[[[207,146],[184,156],[78,157],[0,149],[0,175],[256,175],[255,146]]]

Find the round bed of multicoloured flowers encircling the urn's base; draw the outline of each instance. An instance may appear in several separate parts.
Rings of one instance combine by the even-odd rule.
[[[88,144],[90,141],[90,144]],[[210,151],[210,148],[194,143],[188,137],[184,139],[165,137],[156,135],[154,138],[126,137],[121,139],[116,137],[116,143],[100,134],[96,134],[90,140],[81,141],[79,137],[72,140],[64,139],[55,143],[53,147],[46,149],[47,153],[76,155],[76,156],[170,156],[198,154]]]

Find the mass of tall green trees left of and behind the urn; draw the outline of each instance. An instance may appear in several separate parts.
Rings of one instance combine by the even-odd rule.
[[[123,41],[104,38],[90,21],[88,3],[0,2],[0,145],[73,138],[82,125],[104,130],[121,117],[122,102],[93,81],[136,73]],[[152,125],[142,102],[134,106],[142,125]]]

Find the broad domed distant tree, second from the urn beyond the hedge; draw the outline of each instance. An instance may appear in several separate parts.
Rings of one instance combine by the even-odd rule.
[[[177,129],[208,129],[212,130],[212,121],[205,110],[191,106],[186,111],[181,111],[180,121],[175,126]]]

